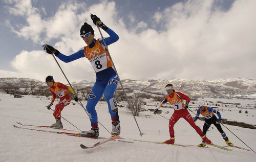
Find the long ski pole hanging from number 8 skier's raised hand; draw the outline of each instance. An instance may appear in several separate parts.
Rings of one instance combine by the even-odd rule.
[[[109,56],[110,56],[109,48],[108,48],[108,46],[107,46],[106,43],[105,43],[105,40],[104,40],[103,35],[102,35],[102,33],[101,33],[100,29],[99,29],[98,24],[97,24],[97,28],[98,28],[99,33],[100,33],[100,35],[101,35],[101,38],[102,38],[102,40],[103,40],[103,42],[104,42],[106,51],[108,51]],[[110,60],[111,60],[111,62],[112,62],[112,64],[113,64],[114,70],[116,71],[116,67],[115,67],[115,64],[114,64],[114,62],[113,62],[111,56],[110,56]],[[117,71],[116,71],[116,75],[117,75],[117,77],[118,77],[118,79],[119,79],[119,83],[120,83],[120,85],[121,85],[121,87],[122,87],[122,89],[123,89],[123,93],[124,93],[125,99],[126,99],[128,105],[129,105],[129,107],[131,108],[131,111],[132,111],[132,114],[133,114],[133,118],[134,118],[134,120],[135,120],[135,122],[136,122],[136,124],[137,124],[137,127],[138,127],[139,131],[140,131],[139,125],[138,125],[137,120],[136,120],[136,118],[135,118],[135,116],[134,116],[133,107],[131,106],[131,104],[130,104],[128,98],[127,98],[127,95],[126,95],[126,93],[125,93],[125,91],[124,91],[124,88],[123,88],[121,79],[119,78],[119,75],[118,75]],[[141,133],[141,131],[140,131],[140,135],[141,135],[141,136],[143,135],[143,133]]]

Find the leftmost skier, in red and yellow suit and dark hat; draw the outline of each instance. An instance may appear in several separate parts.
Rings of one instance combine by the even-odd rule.
[[[65,106],[68,106],[70,104],[70,101],[71,101],[67,90],[69,90],[73,95],[75,95],[75,92],[73,91],[73,89],[70,86],[64,85],[59,82],[54,82],[52,76],[48,76],[46,78],[46,83],[50,87],[49,89],[52,92],[52,101],[47,106],[47,108],[49,110],[51,109],[51,106],[53,105],[53,102],[55,101],[56,96],[58,95],[58,97],[59,97],[59,103],[56,104],[54,113],[53,113],[53,116],[56,119],[56,123],[52,124],[50,127],[63,128],[63,125],[60,120],[60,118],[61,118],[60,113]],[[76,96],[75,96],[75,101],[78,101]]]

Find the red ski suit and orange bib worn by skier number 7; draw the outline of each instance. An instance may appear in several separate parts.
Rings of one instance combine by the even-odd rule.
[[[181,92],[175,91],[171,95],[166,96],[157,107],[159,109],[163,104],[165,104],[166,102],[169,102],[171,105],[173,105],[175,109],[172,117],[170,117],[170,120],[169,120],[170,137],[172,138],[175,136],[174,125],[180,118],[184,118],[191,125],[191,127],[193,127],[197,131],[197,133],[202,137],[203,136],[202,130],[195,124],[188,110],[184,108],[183,100],[186,100],[187,103],[190,102],[189,97],[182,94]]]

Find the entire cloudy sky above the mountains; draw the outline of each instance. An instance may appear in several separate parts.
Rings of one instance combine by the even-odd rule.
[[[84,22],[100,38],[91,13],[119,36],[109,52],[121,80],[256,78],[254,6],[254,0],[2,0],[0,78],[52,75],[67,83],[42,45],[77,52],[86,46],[79,36]],[[70,82],[95,81],[87,58],[56,59]]]

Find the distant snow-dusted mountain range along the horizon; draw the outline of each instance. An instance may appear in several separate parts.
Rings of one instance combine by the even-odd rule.
[[[29,78],[0,78],[0,85],[4,82],[12,83],[18,86],[23,86],[26,82],[35,81],[44,83],[38,80]],[[122,80],[122,85],[125,89],[139,90],[150,94],[166,95],[165,85],[172,83],[176,91],[183,92],[190,98],[238,98],[252,99],[256,98],[256,79],[255,78],[225,78],[225,79],[205,79],[205,80],[188,80],[188,79],[173,79],[173,80]],[[72,86],[93,86],[94,83],[89,81],[72,82]],[[120,84],[118,89],[120,89]]]

